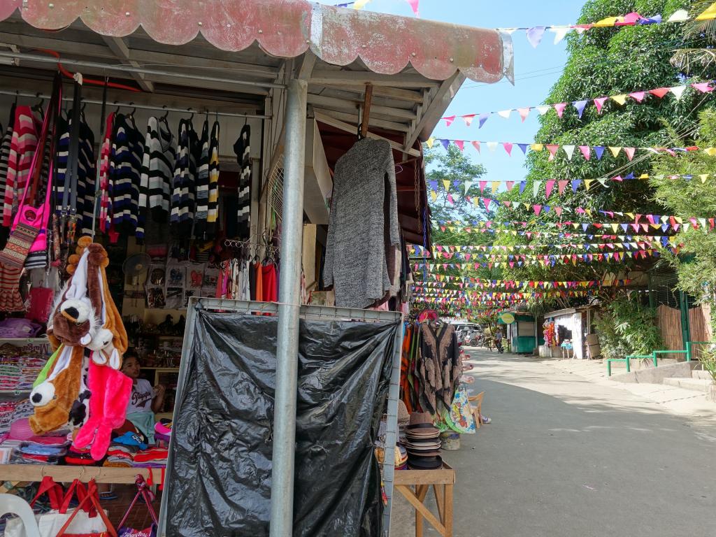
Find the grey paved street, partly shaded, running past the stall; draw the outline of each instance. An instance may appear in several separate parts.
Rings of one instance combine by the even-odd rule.
[[[444,453],[458,470],[456,537],[716,533],[712,417],[675,414],[555,362],[467,352],[470,390],[485,390],[483,415],[493,423]],[[391,536],[415,535],[413,520],[399,498]]]

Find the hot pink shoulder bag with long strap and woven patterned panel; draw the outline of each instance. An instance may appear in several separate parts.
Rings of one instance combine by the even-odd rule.
[[[44,248],[47,248],[47,222],[49,220],[49,214],[52,212],[49,201],[50,193],[52,192],[54,163],[50,162],[49,165],[47,193],[45,194],[44,203],[37,207],[32,207],[30,203],[32,203],[37,193],[39,178],[40,175],[42,175],[44,153],[47,149],[47,136],[52,135],[52,131],[54,131],[54,122],[57,119],[57,115],[59,115],[61,104],[62,79],[58,79],[56,76],[49,107],[47,107],[47,113],[42,122],[42,131],[40,132],[37,143],[37,150],[35,150],[32,156],[28,183],[24,188],[17,212],[15,213],[7,244],[3,251],[0,251],[0,263],[3,266],[21,269],[24,266],[28,253],[31,251],[42,251]],[[50,154],[54,155],[54,136],[52,136],[49,145]]]

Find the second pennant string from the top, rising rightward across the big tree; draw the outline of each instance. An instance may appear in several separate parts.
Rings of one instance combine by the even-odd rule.
[[[529,115],[529,112],[531,110],[537,110],[540,115],[546,114],[548,110],[553,109],[557,112],[558,117],[563,117],[564,111],[567,109],[569,105],[575,108],[577,114],[579,117],[581,117],[582,113],[584,112],[584,108],[589,105],[590,102],[594,102],[594,105],[597,108],[597,111],[601,114],[601,111],[604,110],[604,107],[606,106],[606,103],[611,101],[614,101],[616,105],[624,106],[627,103],[627,100],[631,99],[634,102],[642,103],[646,102],[645,97],[647,95],[651,95],[653,97],[656,97],[658,99],[663,99],[666,97],[667,94],[674,95],[674,98],[676,100],[681,100],[684,96],[684,92],[687,88],[691,87],[695,89],[697,92],[701,93],[710,93],[715,88],[712,86],[715,81],[710,80],[709,82],[700,82],[695,84],[681,84],[679,86],[674,87],[659,87],[655,89],[649,89],[644,91],[635,91],[631,93],[623,93],[620,95],[611,95],[609,97],[596,97],[596,99],[586,99],[586,100],[577,100],[573,101],[571,103],[569,102],[556,102],[550,105],[533,105],[529,107],[521,107],[521,108],[510,108],[508,110],[500,110],[498,112],[483,112],[480,114],[472,113],[472,114],[466,114],[466,115],[450,115],[442,117],[441,119],[445,121],[445,125],[450,127],[450,125],[453,125],[453,122],[455,122],[455,119],[460,117],[464,122],[465,125],[470,125],[472,123],[472,120],[475,116],[480,117],[480,127],[482,127],[485,124],[485,121],[487,121],[490,117],[490,115],[497,114],[500,117],[504,117],[505,119],[509,119],[512,112],[521,110],[520,117],[524,121],[526,117]]]

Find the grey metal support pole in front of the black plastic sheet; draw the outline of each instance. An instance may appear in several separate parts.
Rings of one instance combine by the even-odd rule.
[[[284,218],[276,340],[276,403],[271,475],[271,537],[291,537],[294,525],[294,458],[299,369],[301,237],[304,220],[304,161],[308,83],[292,79],[286,100]]]

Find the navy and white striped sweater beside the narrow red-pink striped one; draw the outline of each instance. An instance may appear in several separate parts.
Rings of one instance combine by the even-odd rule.
[[[117,233],[135,235],[139,223],[144,137],[134,120],[121,114],[115,116],[113,130],[110,158],[112,226]]]

